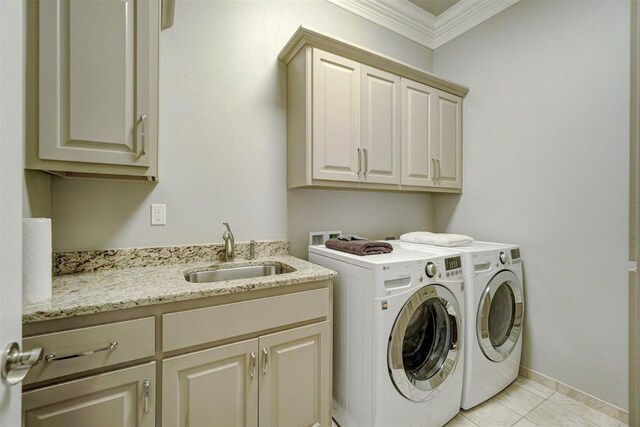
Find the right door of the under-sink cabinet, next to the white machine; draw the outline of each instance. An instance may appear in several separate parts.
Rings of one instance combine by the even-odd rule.
[[[331,425],[329,322],[260,337],[260,426]]]

